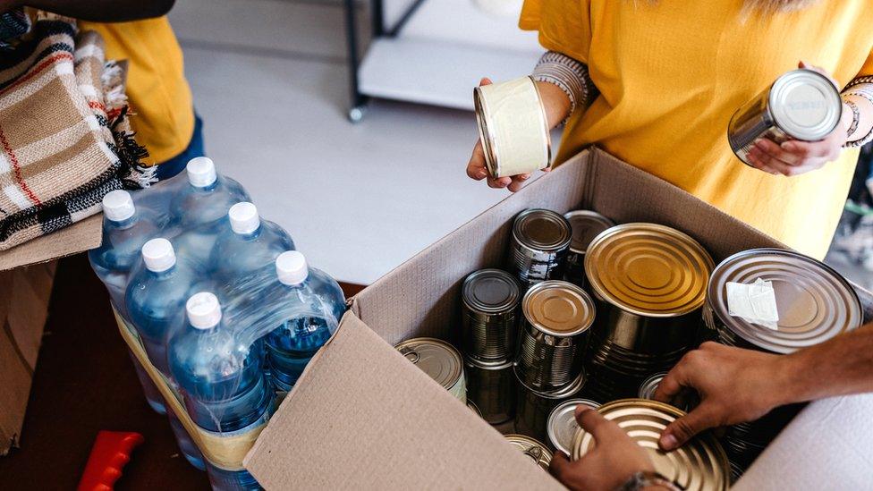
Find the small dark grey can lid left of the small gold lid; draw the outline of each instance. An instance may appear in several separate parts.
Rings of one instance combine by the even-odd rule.
[[[513,275],[500,269],[480,269],[464,280],[461,297],[474,312],[499,314],[518,305],[521,289]]]

